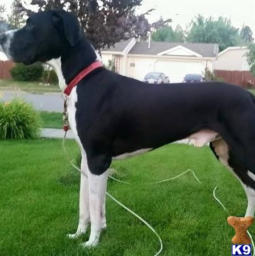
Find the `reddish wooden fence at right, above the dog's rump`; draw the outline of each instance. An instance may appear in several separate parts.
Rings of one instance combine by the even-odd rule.
[[[225,82],[243,87],[255,86],[255,77],[249,71],[215,70],[215,75],[224,79]]]

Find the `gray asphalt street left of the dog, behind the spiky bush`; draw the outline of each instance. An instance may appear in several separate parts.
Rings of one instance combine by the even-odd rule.
[[[44,111],[54,111],[62,112],[63,111],[63,100],[60,96],[60,93],[52,94],[31,94],[24,92],[9,92],[2,91],[2,100],[8,101],[14,97],[22,97],[27,102],[32,103],[35,109],[44,110]]]

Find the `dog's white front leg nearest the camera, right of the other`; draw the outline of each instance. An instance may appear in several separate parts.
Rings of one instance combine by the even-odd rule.
[[[101,175],[94,175],[89,171],[88,177],[91,231],[85,246],[96,246],[101,230],[106,228],[105,198],[108,171]]]

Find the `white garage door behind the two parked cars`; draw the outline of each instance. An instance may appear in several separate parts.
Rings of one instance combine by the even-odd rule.
[[[165,73],[170,82],[182,82],[186,74],[203,74],[204,64],[199,61],[165,61],[158,60],[155,63],[155,72]]]

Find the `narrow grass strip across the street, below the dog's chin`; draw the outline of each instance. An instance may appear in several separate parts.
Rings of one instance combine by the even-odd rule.
[[[40,82],[19,82],[12,79],[0,80],[0,90],[21,90],[30,93],[58,93],[61,92],[58,85],[41,85]]]

